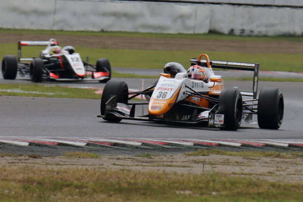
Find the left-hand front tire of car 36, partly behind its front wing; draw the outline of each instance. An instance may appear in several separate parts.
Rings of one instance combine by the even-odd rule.
[[[128,103],[128,86],[124,81],[110,80],[106,83],[101,97],[101,115],[105,115],[106,103],[114,95],[117,96],[117,103]],[[122,119],[117,117],[107,117],[104,118],[104,120],[110,122],[120,122]]]

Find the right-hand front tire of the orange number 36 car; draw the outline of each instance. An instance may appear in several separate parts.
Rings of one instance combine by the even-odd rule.
[[[219,95],[219,105],[225,106],[225,126],[222,130],[237,130],[243,114],[243,100],[239,90],[225,89]]]

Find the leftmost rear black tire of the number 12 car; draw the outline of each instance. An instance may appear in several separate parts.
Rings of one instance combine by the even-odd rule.
[[[17,76],[16,56],[7,55],[2,60],[2,75],[4,79],[15,79]]]

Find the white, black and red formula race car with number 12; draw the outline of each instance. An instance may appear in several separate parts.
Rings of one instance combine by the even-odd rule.
[[[44,46],[39,58],[21,58],[22,46]],[[17,74],[28,77],[33,82],[97,80],[107,82],[111,79],[111,65],[108,59],[100,58],[96,65],[83,61],[72,46],[62,48],[60,54],[49,54],[50,48],[58,45],[56,39],[49,41],[18,41],[18,60],[7,55],[2,60],[4,79],[15,79]],[[29,63],[28,63],[29,61]]]

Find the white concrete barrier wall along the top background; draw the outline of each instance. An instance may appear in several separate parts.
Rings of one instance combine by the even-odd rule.
[[[273,0],[263,2],[269,1]],[[284,3],[301,6],[294,1],[298,0]],[[250,4],[251,0],[242,2]],[[107,0],[0,1],[0,27],[17,29],[302,35],[301,19],[302,8]]]

